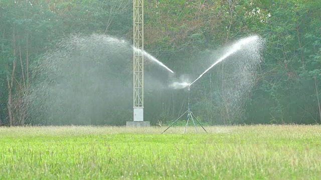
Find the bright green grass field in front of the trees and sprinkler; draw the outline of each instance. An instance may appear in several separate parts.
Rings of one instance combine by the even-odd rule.
[[[0,127],[0,179],[320,179],[320,125]]]

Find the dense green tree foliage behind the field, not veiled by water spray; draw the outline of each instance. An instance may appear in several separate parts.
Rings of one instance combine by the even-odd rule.
[[[228,73],[224,63],[193,89],[195,114],[210,124],[320,123],[320,7],[320,0],[145,0],[144,48],[177,76],[197,75],[210,64],[200,62],[209,51],[259,34],[266,39],[264,61],[246,99],[246,118],[229,119],[225,96],[220,95],[226,87],[221,77]],[[93,32],[130,40],[132,2],[0,1],[0,124],[33,123],[27,113],[32,102],[24,100],[33,80],[30,64],[70,33]],[[144,118],[152,124],[176,118],[185,110],[184,93],[168,90],[146,98]],[[132,119],[128,112],[109,112],[116,114],[114,118],[96,119],[95,124],[123,125]]]

